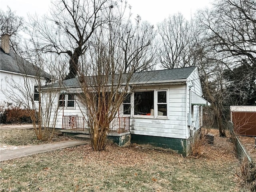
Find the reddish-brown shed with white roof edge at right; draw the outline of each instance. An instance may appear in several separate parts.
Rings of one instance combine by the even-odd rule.
[[[230,106],[230,112],[237,134],[256,136],[256,106]]]

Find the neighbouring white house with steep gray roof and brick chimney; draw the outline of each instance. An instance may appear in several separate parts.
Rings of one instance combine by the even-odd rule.
[[[38,101],[38,77],[45,84],[50,75],[10,50],[10,36],[1,36],[0,50],[0,104],[24,107],[29,100]]]

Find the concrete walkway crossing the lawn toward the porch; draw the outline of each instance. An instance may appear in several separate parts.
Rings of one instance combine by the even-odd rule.
[[[10,160],[14,158],[29,156],[33,154],[78,146],[88,144],[88,141],[78,141],[78,140],[68,140],[68,141],[61,141],[56,143],[49,143],[49,144],[42,144],[42,145],[34,145],[34,146],[27,146],[17,149],[11,150],[4,150],[0,152],[0,161]]]

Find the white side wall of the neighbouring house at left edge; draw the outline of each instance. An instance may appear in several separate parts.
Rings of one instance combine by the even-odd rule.
[[[32,76],[22,76],[21,74],[8,73],[0,71],[0,103],[9,102],[14,105],[21,104],[22,106],[29,103],[24,94],[34,96],[34,86],[36,78]],[[27,86],[25,86],[27,84]],[[30,104],[31,106],[31,104]]]

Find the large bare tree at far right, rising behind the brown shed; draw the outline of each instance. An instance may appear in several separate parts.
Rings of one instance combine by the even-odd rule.
[[[254,1],[229,0],[197,14],[195,53],[221,136],[225,136],[230,105],[255,104],[254,13]]]

